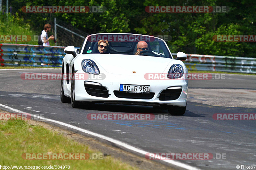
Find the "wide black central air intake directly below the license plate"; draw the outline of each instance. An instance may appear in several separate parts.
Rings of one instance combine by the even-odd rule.
[[[152,99],[155,93],[134,93],[134,92],[120,92],[115,90],[114,94],[118,98],[125,98],[125,99]]]

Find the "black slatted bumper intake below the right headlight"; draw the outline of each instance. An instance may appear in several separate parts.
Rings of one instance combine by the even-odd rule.
[[[180,97],[181,92],[182,89],[167,89],[159,93],[160,96],[158,98],[161,101],[176,100]]]

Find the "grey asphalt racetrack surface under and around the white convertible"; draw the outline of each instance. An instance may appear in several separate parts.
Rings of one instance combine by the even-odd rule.
[[[11,107],[29,114],[44,114],[45,118],[110,137],[146,152],[213,155],[210,160],[162,161],[177,169],[236,169],[237,165],[256,165],[256,121],[213,119],[217,113],[255,114],[256,76],[229,74],[222,80],[189,81],[187,110],[183,116],[167,115],[165,120],[101,121],[88,120],[87,115],[152,113],[157,117],[168,111],[151,106],[113,104],[72,108],[69,103],[60,101],[60,80],[22,80],[22,73],[61,73],[61,69],[0,70],[1,109],[14,113],[7,108]],[[143,154],[120,147],[143,157]]]

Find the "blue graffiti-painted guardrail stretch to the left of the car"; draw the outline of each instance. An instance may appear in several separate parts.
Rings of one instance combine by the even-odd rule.
[[[65,47],[0,44],[0,66],[61,67]]]

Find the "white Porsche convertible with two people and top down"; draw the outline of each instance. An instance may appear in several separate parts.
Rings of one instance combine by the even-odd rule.
[[[165,108],[171,115],[186,111],[188,70],[181,60],[187,56],[178,52],[174,59],[160,38],[92,34],[79,49],[68,46],[64,52],[62,74],[67,76],[61,80],[61,101],[72,107],[114,103]]]

